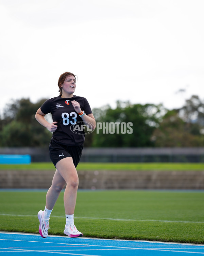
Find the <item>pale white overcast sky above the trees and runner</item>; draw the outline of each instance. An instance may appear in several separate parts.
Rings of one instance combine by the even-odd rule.
[[[0,111],[78,76],[91,108],[204,98],[203,0],[0,0]]]

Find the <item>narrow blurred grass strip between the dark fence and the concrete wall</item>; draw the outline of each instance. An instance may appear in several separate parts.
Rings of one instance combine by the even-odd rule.
[[[0,170],[53,170],[52,162],[33,162],[30,165],[3,165]],[[203,171],[204,163],[90,163],[80,162],[77,170],[160,170],[160,171]]]

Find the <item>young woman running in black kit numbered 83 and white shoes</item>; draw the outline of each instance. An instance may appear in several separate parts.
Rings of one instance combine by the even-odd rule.
[[[93,130],[96,122],[88,101],[83,97],[73,95],[76,88],[76,77],[73,73],[63,73],[59,78],[58,87],[60,96],[45,101],[35,115],[41,125],[53,132],[49,153],[56,167],[52,185],[46,195],[45,210],[38,212],[39,233],[43,238],[48,236],[52,209],[66,184],[64,233],[69,237],[81,237],[83,234],[74,225],[74,208],[79,184],[76,167],[81,157],[85,134],[83,129],[78,129],[77,133],[74,132],[74,125],[80,122],[77,124],[88,125],[89,129]],[[52,123],[45,119],[48,113],[52,114]]]

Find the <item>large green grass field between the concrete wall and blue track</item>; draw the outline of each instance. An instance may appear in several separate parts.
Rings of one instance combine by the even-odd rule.
[[[0,191],[0,230],[38,233],[45,191]],[[204,243],[204,192],[79,190],[74,222],[84,237]],[[64,235],[63,192],[50,234]]]

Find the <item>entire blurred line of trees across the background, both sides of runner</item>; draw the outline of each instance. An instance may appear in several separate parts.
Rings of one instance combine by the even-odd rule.
[[[37,109],[45,100],[32,103],[29,98],[22,98],[6,104],[0,117],[1,147],[48,147],[52,133],[35,119]],[[94,132],[86,134],[84,146],[204,146],[204,101],[197,95],[173,110],[164,108],[163,104],[116,103],[115,109],[109,105],[92,109],[96,123],[100,125]],[[52,122],[49,114],[46,118]],[[131,132],[124,131],[124,125],[128,123]]]

